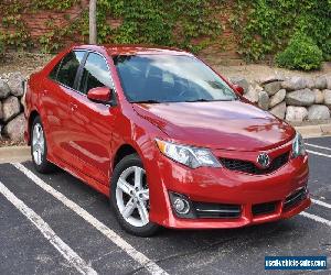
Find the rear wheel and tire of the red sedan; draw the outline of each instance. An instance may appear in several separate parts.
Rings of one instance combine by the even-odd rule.
[[[54,166],[47,161],[47,143],[40,117],[36,117],[32,122],[30,140],[34,168],[42,174],[52,172]]]

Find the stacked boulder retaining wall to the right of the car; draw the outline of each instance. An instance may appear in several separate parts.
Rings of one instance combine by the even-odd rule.
[[[271,76],[248,84],[232,79],[245,89],[244,97],[264,110],[289,122],[329,120],[331,75],[284,78]]]

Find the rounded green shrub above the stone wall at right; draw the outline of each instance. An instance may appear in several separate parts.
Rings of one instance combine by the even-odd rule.
[[[323,52],[303,34],[296,34],[285,51],[276,55],[277,65],[289,69],[318,69],[322,62]]]

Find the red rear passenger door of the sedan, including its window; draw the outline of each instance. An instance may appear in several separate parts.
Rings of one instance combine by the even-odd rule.
[[[77,72],[85,51],[66,54],[51,72],[42,87],[42,121],[44,122],[50,153],[66,163],[71,163],[68,152],[71,136],[71,94],[74,91]]]

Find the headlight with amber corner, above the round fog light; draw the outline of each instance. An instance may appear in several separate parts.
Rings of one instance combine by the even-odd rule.
[[[161,153],[191,168],[201,166],[221,167],[217,158],[207,148],[197,148],[156,140]]]

